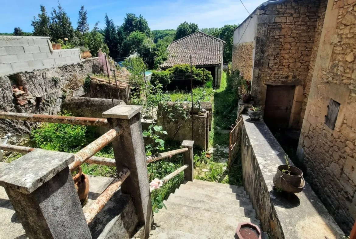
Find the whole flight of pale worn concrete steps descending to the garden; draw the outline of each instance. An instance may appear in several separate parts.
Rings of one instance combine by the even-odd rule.
[[[200,180],[185,181],[153,219],[150,239],[235,238],[241,222],[260,227],[244,187]],[[267,238],[264,234],[262,238]]]

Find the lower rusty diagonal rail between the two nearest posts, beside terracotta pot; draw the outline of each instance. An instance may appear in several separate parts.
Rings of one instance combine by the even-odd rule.
[[[104,190],[103,193],[99,195],[98,198],[95,199],[95,201],[90,205],[90,207],[85,210],[84,212],[84,217],[87,220],[87,223],[89,224],[94,217],[101,211],[101,209],[104,208],[106,203],[110,200],[110,198],[114,195],[115,192],[117,192],[122,184],[127,178],[127,176],[130,175],[130,170],[128,168],[124,168],[117,178],[112,181],[112,183]]]

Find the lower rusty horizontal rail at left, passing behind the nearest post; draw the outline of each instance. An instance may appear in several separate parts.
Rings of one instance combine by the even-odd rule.
[[[36,148],[17,146],[17,145],[10,145],[10,144],[0,144],[0,149],[4,150],[4,151],[18,152],[18,153],[21,153],[21,154],[28,154],[29,152],[35,150]],[[75,155],[74,155],[74,159],[75,159]],[[113,166],[113,167],[116,166],[115,159],[110,159],[110,158],[105,158],[105,157],[91,156],[85,162],[86,163],[90,163],[90,164],[98,164],[98,165],[105,165],[105,166]]]

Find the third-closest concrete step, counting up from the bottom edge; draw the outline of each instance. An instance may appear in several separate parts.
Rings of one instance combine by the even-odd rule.
[[[244,217],[256,218],[256,212],[254,209],[252,209],[252,206],[251,208],[246,209],[242,207],[235,207],[229,204],[205,201],[203,200],[203,198],[192,199],[186,196],[177,195],[175,193],[169,195],[167,201],[185,204],[190,207],[205,209],[211,212],[216,212],[216,214],[225,213],[230,215],[241,215]],[[189,211],[187,211],[186,213],[189,213]]]

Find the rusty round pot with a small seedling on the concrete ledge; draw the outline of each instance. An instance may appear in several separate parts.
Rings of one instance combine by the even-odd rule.
[[[277,188],[277,191],[286,191],[289,193],[302,192],[305,186],[302,170],[290,166],[287,155],[284,156],[284,160],[286,160],[286,164],[279,165],[277,173],[273,177],[274,186]]]

